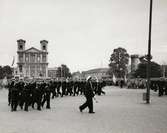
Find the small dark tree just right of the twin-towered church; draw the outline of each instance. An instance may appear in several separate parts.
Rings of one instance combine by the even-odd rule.
[[[70,69],[66,65],[62,64],[57,69],[57,77],[71,77]]]

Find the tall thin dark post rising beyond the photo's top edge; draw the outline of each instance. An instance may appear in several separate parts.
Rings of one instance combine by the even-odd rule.
[[[150,14],[149,14],[149,37],[148,37],[148,63],[147,63],[147,92],[146,103],[150,103],[150,66],[151,66],[151,26],[152,26],[152,5],[153,0],[150,0]]]

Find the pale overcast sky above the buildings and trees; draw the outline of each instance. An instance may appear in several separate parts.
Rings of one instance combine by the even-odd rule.
[[[153,60],[167,64],[167,0],[153,1]],[[114,48],[147,53],[148,20],[149,0],[0,0],[0,65],[17,58],[16,40],[46,39],[49,67],[108,67]]]

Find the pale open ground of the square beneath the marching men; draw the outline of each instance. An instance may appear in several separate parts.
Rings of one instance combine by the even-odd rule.
[[[0,91],[0,133],[167,133],[167,96],[151,91],[151,104],[142,101],[145,90],[106,87],[96,96],[95,114],[80,113],[83,96],[51,100],[51,110],[10,112],[7,90]]]

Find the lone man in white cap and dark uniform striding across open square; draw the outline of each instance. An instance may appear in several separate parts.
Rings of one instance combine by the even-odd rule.
[[[94,93],[93,93],[93,88],[92,88],[92,83],[91,83],[91,76],[88,76],[87,78],[84,95],[86,97],[86,102],[79,107],[80,112],[82,112],[82,110],[88,107],[89,113],[95,113],[93,112]]]

